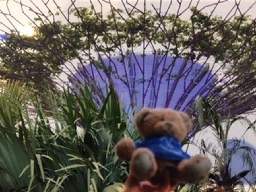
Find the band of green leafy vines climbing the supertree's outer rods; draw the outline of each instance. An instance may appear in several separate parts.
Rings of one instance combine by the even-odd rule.
[[[219,77],[214,85],[216,94],[224,94],[221,97],[229,104],[237,103],[230,111],[240,108],[241,113],[256,107],[255,19],[241,12],[225,18],[213,16],[197,6],[170,14],[171,4],[162,11],[154,5],[146,10],[123,2],[124,9],[119,9],[104,3],[110,7],[106,15],[102,9],[97,11],[92,2],[89,7],[72,3],[67,15],[57,3],[54,13],[44,2],[47,14],[20,3],[21,8],[30,8],[37,15],[29,18],[35,33],[26,36],[17,30],[6,31],[7,38],[0,46],[1,77],[24,80],[40,92],[49,86],[54,89],[56,79],[62,81],[60,73],[75,78],[76,63],[103,67],[99,62],[102,57],[150,51],[198,61],[213,71]],[[190,19],[182,19],[189,9]],[[231,10],[238,12],[238,4]],[[57,16],[64,21],[55,19]],[[216,94],[209,99],[216,102]],[[247,108],[241,109],[241,103],[247,103]],[[220,102],[215,106],[223,108]]]

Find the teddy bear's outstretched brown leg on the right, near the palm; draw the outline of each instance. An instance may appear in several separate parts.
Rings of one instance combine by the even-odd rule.
[[[196,155],[191,159],[183,160],[177,167],[177,181],[198,183],[208,176],[210,168],[210,159],[203,155]]]

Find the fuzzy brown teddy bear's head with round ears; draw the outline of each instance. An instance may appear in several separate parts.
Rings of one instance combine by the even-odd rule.
[[[183,141],[192,128],[192,121],[183,112],[144,108],[136,117],[136,126],[144,138],[168,135]]]

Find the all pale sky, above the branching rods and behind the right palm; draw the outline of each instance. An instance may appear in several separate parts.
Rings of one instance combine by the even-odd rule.
[[[7,2],[8,2],[8,6],[6,6]],[[47,11],[48,11],[47,7],[42,3],[42,2],[46,2],[46,0],[44,0],[44,1],[32,0],[32,2],[34,2],[34,4],[30,0],[22,0],[21,2],[26,5],[31,6],[34,10],[37,10],[36,11],[37,13],[40,13],[40,10],[42,10],[43,13],[47,13]],[[71,5],[71,3],[70,3],[71,1],[70,0],[55,0],[55,2],[58,3],[58,5],[63,10],[63,12],[67,15],[67,10],[69,9],[69,7]],[[94,6],[96,7],[96,9],[100,10],[100,4],[98,3],[98,1],[92,0],[92,2],[94,2]],[[104,3],[103,1],[100,1],[100,2],[102,2],[104,14],[106,14],[110,10],[110,7],[109,7],[108,3]],[[113,3],[113,5],[115,7],[123,8],[123,5],[120,0],[112,0],[111,2]],[[128,1],[128,2],[130,2],[131,4],[134,4],[136,1],[133,0],[133,1]],[[160,5],[159,2],[160,2],[159,0],[154,0],[154,1],[147,0],[146,7],[147,7],[147,9],[152,9],[152,4],[156,7],[159,7],[159,5]],[[169,5],[169,2],[170,1],[167,1],[167,0],[162,1],[162,11],[166,10],[166,8]],[[189,2],[190,2],[189,0],[183,0],[182,4],[181,4],[182,5],[181,10],[184,10],[188,6],[193,6],[193,5],[195,5],[195,3],[197,3],[196,0],[193,0],[193,3],[191,5],[189,5]],[[204,12],[210,13],[212,11],[212,9],[214,8],[214,6],[213,5],[209,6],[209,7],[205,7],[205,6],[216,3],[216,2],[218,2],[218,0],[201,0],[198,8],[199,9],[204,8],[203,9]],[[235,2],[239,2],[239,1],[238,0],[237,1],[228,0],[228,1],[225,1],[224,3],[220,3],[218,5],[218,7],[216,7],[215,11],[213,12],[213,15],[226,16],[230,11],[231,11],[230,15],[232,15],[234,13],[234,10],[232,11],[232,7],[234,6]],[[137,7],[142,9],[143,3],[144,3],[144,1],[139,0]],[[253,5],[253,3],[255,3],[255,4]],[[89,0],[77,0],[77,1],[75,1],[75,4],[78,7],[79,6],[87,7],[87,6],[91,5]],[[251,7],[251,5],[253,5],[253,7]],[[53,12],[57,11],[56,5],[54,4],[53,0],[49,0],[48,7],[51,10],[53,10]],[[240,11],[242,13],[244,13],[251,7],[251,9],[249,11],[247,11],[247,14],[252,15],[253,18],[256,18],[256,11],[255,11],[256,10],[256,0],[241,0],[239,7],[240,7]],[[23,8],[24,12],[22,12],[22,8]],[[173,0],[173,4],[170,7],[169,13],[176,13],[177,9],[178,9],[177,0]],[[5,17],[6,14],[7,14],[7,17]],[[236,14],[239,15],[239,12],[236,12]],[[26,26],[28,26],[28,23],[31,22],[31,20],[29,18],[34,18],[35,16],[36,16],[36,14],[29,11],[28,7],[26,7],[26,6],[21,7],[20,4],[16,3],[14,0],[9,0],[9,1],[0,0],[0,34],[5,32],[8,27],[12,28],[12,29],[17,28],[17,30],[24,30],[25,33],[28,33],[29,29],[26,30]],[[184,14],[182,14],[183,19],[188,19],[189,16],[190,16],[189,10],[185,11]],[[15,20],[14,18],[16,18],[17,20]],[[58,19],[63,20],[63,17],[59,17]],[[249,115],[248,118],[251,121],[253,121],[256,118],[256,114]],[[232,132],[231,132],[229,138],[230,139],[240,138],[241,135],[243,135],[245,128],[246,128],[246,126],[244,124],[235,123],[232,127]],[[207,143],[213,142],[215,144],[218,144],[215,141],[214,137],[212,137],[212,133],[210,133],[209,129],[206,129],[206,130],[202,131],[201,133],[199,133],[196,136],[195,141],[198,140],[200,142],[202,138],[204,138],[205,141],[207,141]],[[250,143],[251,145],[256,147],[256,139],[255,139],[255,135],[253,134],[253,132],[248,131],[247,134],[245,134],[245,136],[242,139],[245,139],[248,143]],[[198,149],[196,147],[190,146],[189,152],[191,154],[197,154]]]

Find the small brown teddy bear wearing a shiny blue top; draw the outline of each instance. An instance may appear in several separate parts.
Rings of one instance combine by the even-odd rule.
[[[131,138],[125,138],[115,147],[121,160],[130,161],[124,192],[136,191],[143,182],[152,186],[198,183],[208,176],[209,158],[201,154],[191,157],[181,148],[193,126],[186,113],[143,108],[135,124],[143,140],[134,143]]]

